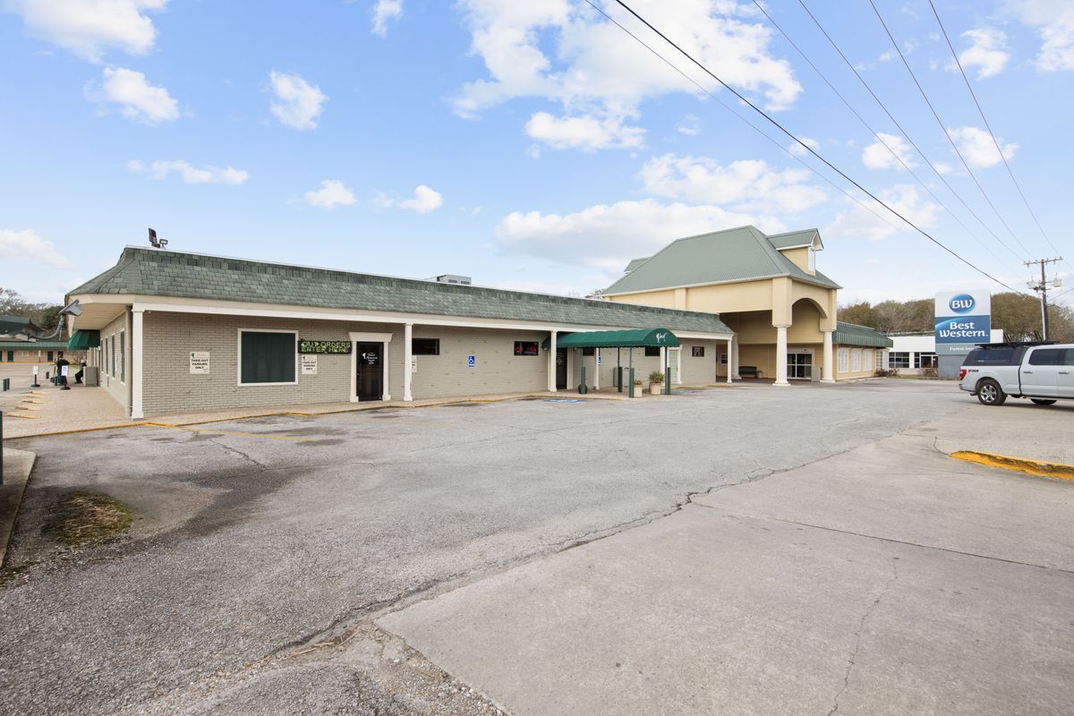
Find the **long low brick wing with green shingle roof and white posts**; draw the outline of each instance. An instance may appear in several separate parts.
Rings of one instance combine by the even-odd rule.
[[[734,338],[709,312],[134,247],[74,299],[72,344],[131,418],[556,391],[583,365],[607,389],[620,356],[639,378],[672,360],[678,382],[711,383]],[[556,346],[624,330],[637,348]],[[678,348],[649,345],[667,334]]]

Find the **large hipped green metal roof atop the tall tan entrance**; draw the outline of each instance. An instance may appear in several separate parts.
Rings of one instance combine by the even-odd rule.
[[[740,227],[671,242],[608,287],[605,293],[633,293],[777,276],[839,288],[821,272],[814,276],[796,266],[755,227]]]

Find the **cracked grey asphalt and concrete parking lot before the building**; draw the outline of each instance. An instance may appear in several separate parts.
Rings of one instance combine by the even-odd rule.
[[[1072,426],[890,380],[12,441],[3,711],[1072,713],[1074,482],[943,454]],[[50,543],[72,491],[129,534]]]

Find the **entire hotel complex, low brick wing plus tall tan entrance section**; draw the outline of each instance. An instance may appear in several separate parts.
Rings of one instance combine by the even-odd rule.
[[[576,390],[583,372],[607,390],[618,364],[647,383],[871,375],[888,342],[837,324],[819,248],[751,227],[680,239],[597,301],[128,247],[68,320],[135,419]]]

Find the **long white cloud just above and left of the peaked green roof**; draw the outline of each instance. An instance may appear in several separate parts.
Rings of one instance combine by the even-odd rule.
[[[650,255],[676,238],[748,223],[773,233],[786,230],[770,217],[645,199],[568,215],[514,211],[496,227],[496,245],[507,253],[596,268],[610,282],[630,259]]]

